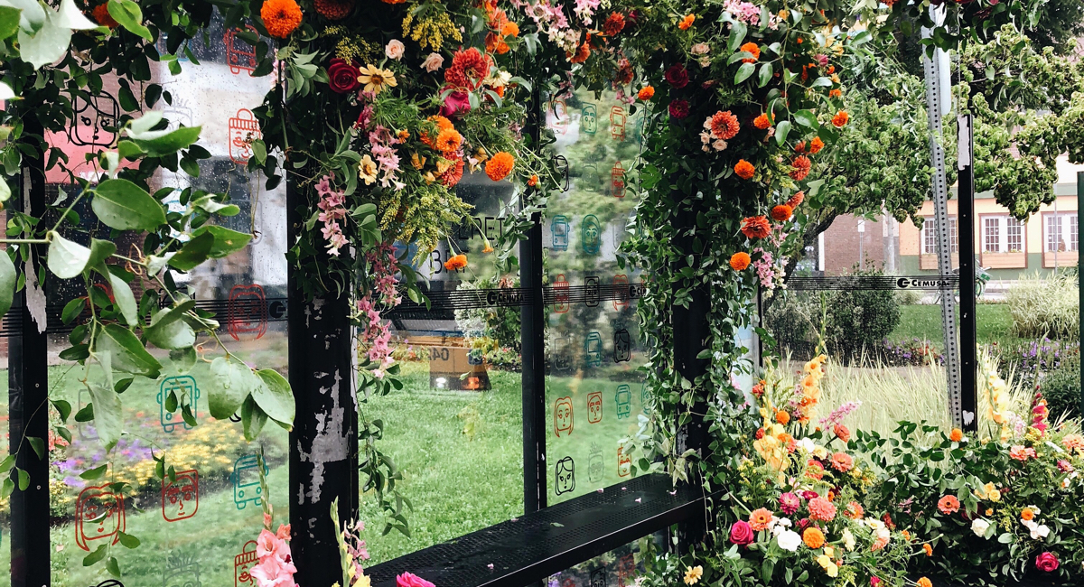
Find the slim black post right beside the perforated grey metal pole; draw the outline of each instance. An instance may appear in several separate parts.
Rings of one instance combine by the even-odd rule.
[[[975,287],[975,115],[959,117],[959,174],[956,194],[959,226],[959,379],[964,430],[978,430],[978,334]]]

